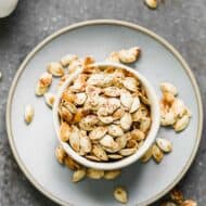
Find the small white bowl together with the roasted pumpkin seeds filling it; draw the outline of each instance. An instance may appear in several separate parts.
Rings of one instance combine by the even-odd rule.
[[[159,128],[155,90],[139,72],[118,63],[79,66],[53,105],[57,138],[81,165],[124,168],[151,147]]]

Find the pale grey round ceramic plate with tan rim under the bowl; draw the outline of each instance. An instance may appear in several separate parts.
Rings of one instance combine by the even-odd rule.
[[[160,129],[158,137],[168,138],[173,152],[162,164],[133,164],[115,181],[85,180],[70,183],[72,173],[54,157],[57,144],[52,113],[42,98],[36,98],[34,87],[50,61],[66,53],[80,56],[92,54],[103,61],[110,52],[139,46],[142,57],[133,67],[147,77],[160,95],[158,83],[170,81],[179,89],[193,117],[181,133]],[[51,90],[55,90],[55,83]],[[26,126],[24,106],[35,106],[35,119]],[[123,184],[128,189],[128,205],[149,205],[167,193],[186,172],[197,152],[202,134],[203,112],[195,79],[180,54],[164,39],[140,26],[117,21],[92,21],[64,28],[41,42],[21,65],[13,81],[7,108],[7,126],[13,154],[33,184],[62,205],[118,205],[113,189]]]

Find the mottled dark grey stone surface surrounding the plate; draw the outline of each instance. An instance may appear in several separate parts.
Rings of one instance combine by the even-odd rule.
[[[5,132],[5,103],[11,81],[21,62],[37,43],[64,26],[86,20],[116,18],[140,24],[165,37],[182,53],[205,101],[205,0],[165,0],[156,11],[145,8],[142,0],[21,0],[10,17],[0,20],[0,70],[3,75],[0,80],[0,206],[55,205],[26,180],[11,154]],[[185,196],[197,199],[199,206],[206,205],[205,137],[179,186]]]

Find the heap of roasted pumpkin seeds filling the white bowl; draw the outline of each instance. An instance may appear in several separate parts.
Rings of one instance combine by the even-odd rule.
[[[150,102],[141,81],[117,67],[85,67],[63,92],[60,134],[88,159],[130,156],[151,127]]]

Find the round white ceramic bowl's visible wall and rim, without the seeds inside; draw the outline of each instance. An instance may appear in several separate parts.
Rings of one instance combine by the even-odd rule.
[[[92,162],[92,160],[87,159],[86,157],[80,156],[78,153],[76,153],[69,146],[68,143],[65,143],[65,142],[63,142],[61,140],[61,138],[60,138],[60,119],[59,119],[59,113],[57,113],[60,100],[61,100],[63,91],[67,88],[67,86],[70,83],[70,81],[76,76],[78,76],[78,74],[81,72],[81,69],[76,70],[74,74],[72,74],[67,78],[67,80],[64,82],[64,85],[60,89],[60,92],[56,95],[56,100],[55,100],[54,105],[53,105],[54,129],[56,131],[59,141],[62,144],[62,146],[64,147],[64,150],[66,151],[66,153],[72,158],[74,158],[76,162],[78,162],[79,164],[81,164],[81,165],[83,165],[86,167],[89,167],[89,168],[103,169],[103,170],[112,170],[112,169],[124,168],[124,167],[137,162],[138,159],[140,159],[141,156],[143,156],[145,154],[145,152],[150,149],[150,146],[155,141],[155,138],[156,138],[156,134],[157,134],[157,131],[158,131],[158,128],[159,128],[159,119],[160,119],[158,99],[157,99],[155,90],[153,89],[151,83],[139,72],[137,72],[137,70],[134,70],[134,69],[132,69],[132,68],[130,68],[128,66],[125,66],[123,64],[111,63],[111,62],[100,62],[100,63],[95,63],[94,65],[95,66],[115,66],[115,67],[119,67],[119,68],[124,68],[126,70],[129,70],[132,74],[134,74],[136,76],[138,76],[140,81],[144,86],[144,88],[146,90],[149,101],[151,102],[152,125],[151,125],[151,129],[150,129],[150,131],[147,133],[147,137],[146,137],[143,145],[133,155],[125,157],[123,159],[112,162],[112,163],[96,163],[96,162]]]

